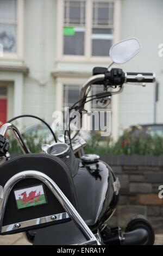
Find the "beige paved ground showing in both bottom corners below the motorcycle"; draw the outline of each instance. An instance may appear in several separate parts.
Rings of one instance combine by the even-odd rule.
[[[31,245],[20,234],[0,236],[0,245]],[[163,234],[155,235],[155,245],[163,245]]]

